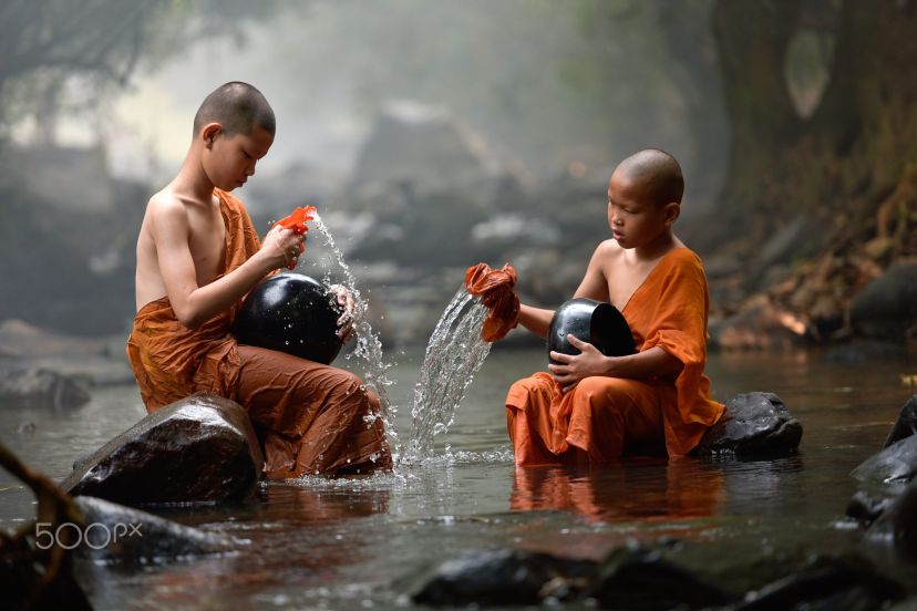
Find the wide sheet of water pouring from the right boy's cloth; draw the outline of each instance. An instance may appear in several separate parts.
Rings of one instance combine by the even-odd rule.
[[[414,386],[413,434],[405,460],[433,458],[433,437],[449,431],[455,421],[465,389],[491,352],[491,343],[481,339],[486,317],[480,299],[462,287],[436,323]]]

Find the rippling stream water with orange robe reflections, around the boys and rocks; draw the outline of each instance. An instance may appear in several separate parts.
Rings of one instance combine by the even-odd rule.
[[[402,442],[410,442],[423,359],[422,348],[393,353],[387,372],[389,400],[402,407]],[[336,364],[351,366],[342,358]],[[512,381],[545,364],[542,350],[495,346],[429,456],[394,474],[264,483],[245,504],[156,509],[247,541],[235,552],[140,569],[81,562],[81,581],[96,609],[391,609],[410,605],[405,593],[419,573],[470,549],[598,559],[628,541],[669,540],[679,541],[678,561],[738,591],[758,559],[789,567],[813,552],[853,549],[917,583],[915,567],[863,543],[844,519],[857,489],[849,472],[882,447],[913,394],[900,380],[913,363],[713,354],[707,371],[715,398],[777,393],[804,426],[797,455],[517,469],[503,400]],[[0,441],[62,479],[75,458],[145,415],[135,386],[94,387],[92,395],[66,412],[0,404]],[[20,526],[34,508],[30,491],[0,470],[0,527]]]

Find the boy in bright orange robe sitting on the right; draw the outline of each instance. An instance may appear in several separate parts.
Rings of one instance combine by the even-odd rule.
[[[574,297],[620,310],[638,352],[605,356],[569,335],[579,354],[552,352],[550,374],[513,384],[506,418],[516,464],[610,463],[663,447],[682,455],[722,415],[703,375],[707,278],[672,234],[683,190],[681,167],[661,151],[641,151],[615,169],[612,239],[596,248]],[[519,322],[544,338],[553,314],[523,304]]]

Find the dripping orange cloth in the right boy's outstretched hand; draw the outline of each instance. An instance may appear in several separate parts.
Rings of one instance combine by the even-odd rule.
[[[481,304],[491,310],[481,329],[481,339],[485,342],[503,339],[518,323],[519,298],[513,292],[515,286],[516,269],[509,263],[503,269],[477,263],[465,272],[465,289],[481,296]]]

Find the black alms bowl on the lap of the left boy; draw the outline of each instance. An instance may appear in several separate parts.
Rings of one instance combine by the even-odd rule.
[[[234,334],[241,344],[327,365],[341,351],[336,333],[341,312],[323,283],[302,273],[280,273],[251,289],[236,317]]]

